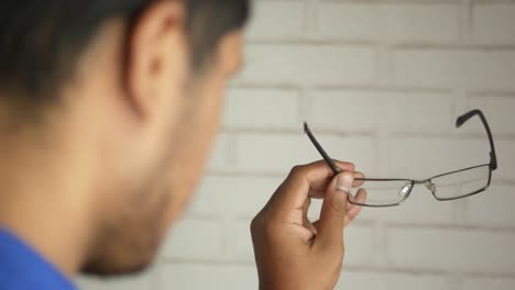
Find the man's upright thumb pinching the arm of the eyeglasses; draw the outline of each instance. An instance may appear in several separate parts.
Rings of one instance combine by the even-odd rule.
[[[352,172],[343,172],[335,177],[332,182],[329,183],[320,212],[316,243],[321,243],[325,246],[343,245],[347,203],[353,181]]]

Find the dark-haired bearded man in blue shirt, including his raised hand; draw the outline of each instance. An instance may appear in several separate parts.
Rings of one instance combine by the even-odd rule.
[[[151,264],[201,177],[249,5],[1,1],[0,289]],[[295,167],[252,223],[261,289],[335,287],[360,210],[339,166]]]

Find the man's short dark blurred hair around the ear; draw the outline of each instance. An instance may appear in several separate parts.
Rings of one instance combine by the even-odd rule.
[[[185,0],[193,65],[205,66],[220,37],[242,27],[250,0]],[[153,0],[0,1],[0,91],[10,103],[41,104],[55,97],[109,19],[136,22]],[[13,98],[13,97],[12,97]]]

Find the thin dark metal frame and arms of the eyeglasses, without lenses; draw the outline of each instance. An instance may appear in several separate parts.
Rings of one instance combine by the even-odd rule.
[[[430,177],[430,178],[425,179],[425,180],[398,179],[398,178],[355,178],[354,179],[355,181],[364,181],[364,182],[365,181],[380,181],[380,182],[381,181],[406,181],[406,182],[410,183],[410,187],[409,187],[409,191],[404,194],[403,200],[401,200],[397,203],[392,203],[392,204],[366,204],[366,203],[359,203],[359,202],[352,201],[350,198],[349,198],[349,202],[352,203],[352,204],[355,204],[355,205],[366,207],[366,208],[398,207],[398,205],[403,204],[409,198],[409,196],[412,194],[413,188],[416,185],[426,185],[426,186],[434,185],[431,182],[432,179],[443,177],[443,176],[449,176],[449,175],[452,175],[452,174],[463,172],[463,171],[475,169],[475,168],[486,167],[486,166],[489,167],[489,182],[487,182],[487,185],[485,187],[483,187],[482,189],[479,189],[479,190],[476,190],[476,191],[474,191],[472,193],[468,193],[465,196],[456,197],[456,198],[438,198],[437,194],[436,194],[436,190],[431,190],[429,188],[428,189],[431,191],[432,196],[438,201],[452,201],[452,200],[464,199],[464,198],[469,198],[469,197],[479,194],[479,193],[484,192],[485,190],[487,190],[490,188],[491,183],[492,183],[492,172],[497,169],[497,155],[495,153],[495,144],[494,144],[494,140],[493,140],[493,136],[492,136],[492,131],[490,129],[489,122],[486,121],[486,118],[484,116],[484,114],[483,114],[483,112],[481,110],[475,109],[475,110],[472,110],[472,111],[470,111],[468,113],[464,113],[463,115],[459,116],[457,119],[457,122],[456,122],[456,127],[458,127],[458,129],[461,127],[467,121],[469,121],[470,119],[472,119],[475,115],[478,115],[481,119],[481,122],[482,122],[482,124],[483,124],[483,126],[484,126],[484,129],[486,131],[486,135],[489,137],[489,142],[490,142],[490,164],[472,166],[472,167],[468,167],[468,168],[463,168],[463,169],[459,169],[459,170],[437,175],[437,176]],[[318,153],[320,153],[320,155],[324,157],[324,159],[329,165],[331,170],[335,172],[335,176],[341,174],[342,170],[336,165],[335,160],[329,157],[327,152],[324,149],[324,147],[317,141],[317,138],[313,134],[311,130],[309,129],[309,125],[307,124],[307,122],[304,123],[304,132],[307,134],[307,136],[309,137],[311,143],[317,148]]]

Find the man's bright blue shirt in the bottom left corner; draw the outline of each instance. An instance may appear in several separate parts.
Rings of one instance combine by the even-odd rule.
[[[54,266],[0,227],[0,290],[74,290]]]

